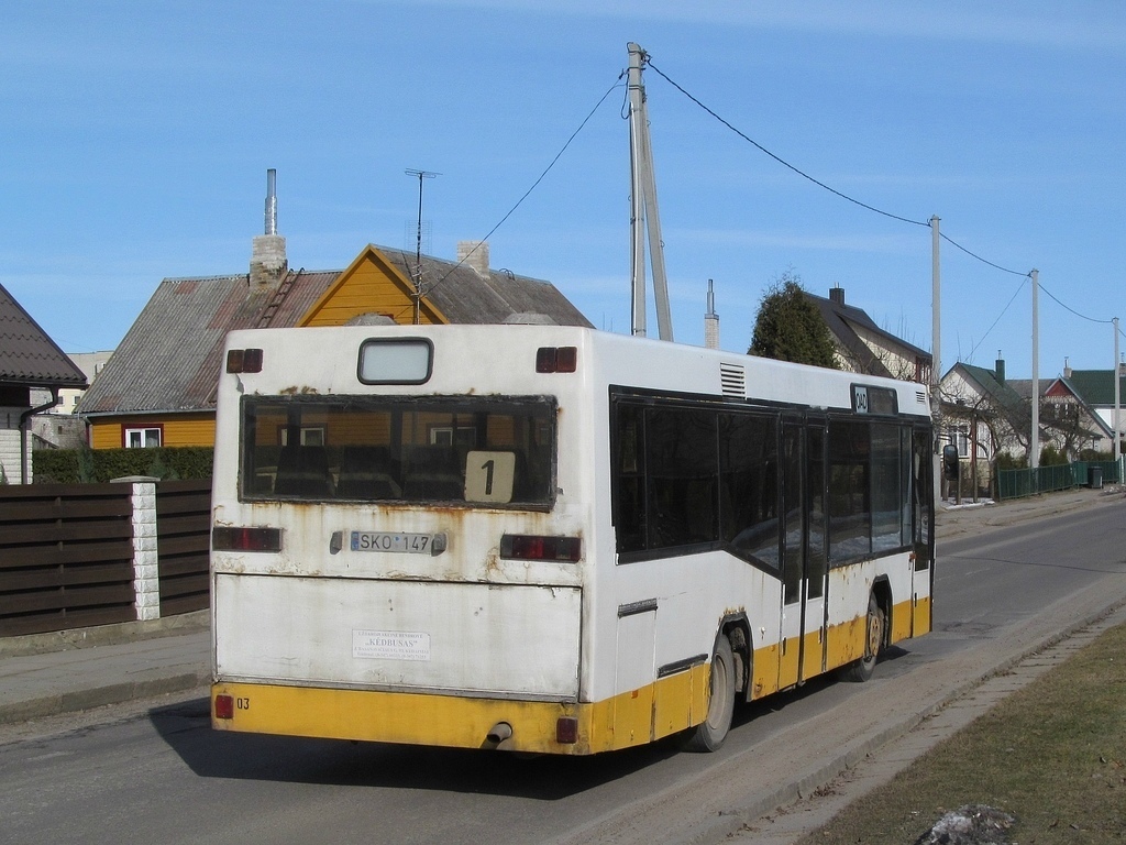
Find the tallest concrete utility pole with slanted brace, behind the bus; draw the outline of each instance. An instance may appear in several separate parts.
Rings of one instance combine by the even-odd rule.
[[[641,72],[649,54],[631,42],[629,73],[629,166],[631,225],[633,228],[633,333],[645,337],[645,230],[649,230],[649,254],[653,264],[653,294],[656,300],[656,328],[661,340],[672,340],[672,317],[669,312],[669,283],[664,275],[664,243],[661,241],[661,217],[656,211],[656,177],[653,174],[653,151],[649,140],[649,112],[645,84]]]

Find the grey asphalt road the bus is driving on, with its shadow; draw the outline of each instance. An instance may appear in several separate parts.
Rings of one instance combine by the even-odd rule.
[[[0,732],[0,842],[720,842],[1126,597],[1116,500],[942,544],[936,631],[868,684],[736,715],[723,749],[566,759],[212,731],[206,700]],[[904,727],[906,726],[906,727]]]

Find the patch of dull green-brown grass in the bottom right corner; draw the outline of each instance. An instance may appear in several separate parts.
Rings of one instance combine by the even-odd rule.
[[[1126,625],[1006,697],[798,845],[915,842],[949,810],[1015,816],[1009,842],[1126,843]]]

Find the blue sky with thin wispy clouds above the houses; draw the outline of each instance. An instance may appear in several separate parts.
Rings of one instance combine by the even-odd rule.
[[[248,272],[268,169],[310,270],[413,250],[426,170],[425,252],[488,235],[628,333],[629,42],[677,341],[703,344],[712,279],[745,352],[796,276],[931,350],[937,216],[944,372],[1031,376],[1033,269],[1038,374],[1112,366],[1118,0],[7,3],[0,284],[65,352],[111,349],[162,278]]]

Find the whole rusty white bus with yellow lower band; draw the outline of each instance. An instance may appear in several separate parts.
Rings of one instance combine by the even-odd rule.
[[[218,729],[717,748],[931,628],[923,385],[571,327],[232,332]]]

